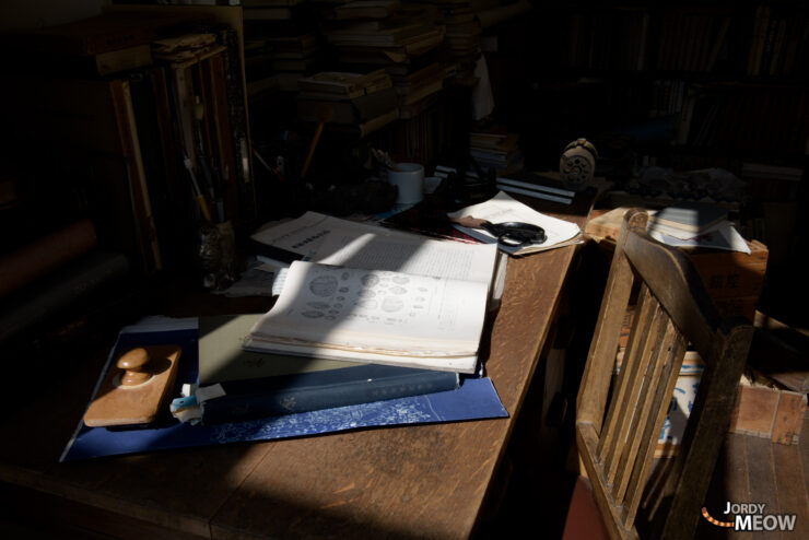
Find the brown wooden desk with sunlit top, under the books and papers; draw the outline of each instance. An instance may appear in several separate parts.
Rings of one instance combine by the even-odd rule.
[[[539,210],[584,228],[591,198]],[[59,463],[104,354],[0,424],[1,493],[33,524],[124,538],[467,538],[538,364],[576,247],[512,259],[483,340],[508,419],[362,430]],[[213,307],[220,313],[232,306]],[[235,313],[235,312],[232,312]],[[488,351],[488,352],[486,352]],[[11,506],[8,506],[11,505]],[[7,509],[8,512],[8,509]]]

